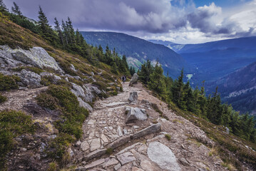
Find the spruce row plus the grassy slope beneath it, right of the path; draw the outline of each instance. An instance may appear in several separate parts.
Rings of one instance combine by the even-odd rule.
[[[140,81],[148,85],[158,98],[168,103],[175,113],[190,120],[204,130],[210,139],[217,142],[215,148],[224,162],[232,163],[238,170],[242,170],[242,162],[256,165],[255,152],[250,152],[243,146],[246,144],[253,149],[256,148],[256,129],[253,118],[249,115],[239,115],[232,110],[231,105],[222,104],[217,88],[213,95],[205,97],[204,87],[193,90],[189,83],[183,83],[183,71],[178,80],[173,81],[172,78],[163,76],[160,68],[158,64],[155,67],[150,66],[150,61],[144,63],[138,71]],[[225,127],[230,129],[230,134],[226,133]],[[242,142],[236,143],[234,139]],[[201,140],[197,142],[200,143]],[[205,142],[202,143],[205,144]]]

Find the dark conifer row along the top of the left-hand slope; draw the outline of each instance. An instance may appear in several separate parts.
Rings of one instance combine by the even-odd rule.
[[[105,51],[103,51],[101,46],[91,46],[86,43],[78,29],[75,30],[73,27],[69,17],[67,21],[63,21],[62,19],[61,23],[58,19],[54,18],[55,26],[52,28],[41,6],[39,6],[38,21],[35,22],[29,21],[26,16],[23,16],[16,2],[14,2],[11,12],[9,12],[3,0],[0,0],[0,11],[6,16],[9,16],[9,19],[14,23],[39,34],[51,46],[61,48],[69,53],[79,54],[83,58],[86,58],[93,66],[99,66],[101,62],[111,66],[111,71],[115,74],[130,76],[130,73],[135,73],[135,68],[129,68],[126,56],[120,56],[115,49],[112,51],[107,46]]]

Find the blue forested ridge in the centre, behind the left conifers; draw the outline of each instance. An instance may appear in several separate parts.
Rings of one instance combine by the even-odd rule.
[[[101,45],[103,49],[108,46],[112,50],[115,48],[119,54],[126,55],[128,63],[136,68],[140,68],[141,63],[147,60],[153,63],[159,61],[165,74],[168,71],[169,76],[173,78],[178,77],[182,68],[185,68],[185,73],[190,73],[192,70],[181,56],[163,45],[150,43],[124,33],[88,31],[81,31],[81,33],[86,42],[93,46]]]

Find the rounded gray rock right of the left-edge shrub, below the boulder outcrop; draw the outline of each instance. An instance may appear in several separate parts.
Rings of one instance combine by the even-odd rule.
[[[24,85],[28,86],[29,88],[41,87],[41,76],[39,76],[37,73],[23,69],[21,70],[19,77],[21,78],[21,83],[24,83]]]

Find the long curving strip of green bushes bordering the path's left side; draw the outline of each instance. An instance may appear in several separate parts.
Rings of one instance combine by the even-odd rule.
[[[79,106],[76,95],[63,86],[51,85],[46,93],[36,98],[37,103],[51,110],[60,110],[63,115],[54,122],[58,129],[58,137],[51,141],[48,155],[59,162],[67,160],[67,147],[83,133],[82,123],[88,116],[88,110]]]

